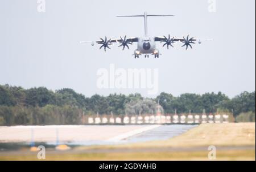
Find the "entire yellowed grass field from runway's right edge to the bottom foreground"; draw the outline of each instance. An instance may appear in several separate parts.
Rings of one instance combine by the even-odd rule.
[[[164,141],[47,150],[46,160],[209,160],[209,145],[216,147],[216,160],[255,160],[255,123],[200,124]],[[0,153],[0,160],[37,158],[23,150]]]

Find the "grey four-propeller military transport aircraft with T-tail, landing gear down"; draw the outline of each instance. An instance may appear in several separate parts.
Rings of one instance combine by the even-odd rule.
[[[117,17],[143,17],[144,18],[144,36],[142,37],[120,37],[118,39],[108,39],[107,37],[105,38],[100,38],[98,41],[80,41],[81,43],[84,42],[90,42],[92,45],[100,44],[100,49],[104,48],[106,51],[106,48],[110,49],[109,45],[112,45],[114,43],[119,43],[119,47],[122,46],[123,50],[125,48],[129,49],[129,45],[133,44],[133,42],[138,42],[138,47],[134,51],[134,58],[139,58],[139,55],[144,54],[145,57],[149,57],[148,54],[155,55],[155,58],[159,58],[159,50],[156,49],[156,42],[164,42],[163,47],[167,46],[167,49],[169,49],[169,46],[174,47],[173,44],[176,42],[182,42],[183,45],[182,47],[185,47],[187,50],[188,47],[192,49],[191,44],[195,44],[195,41],[198,41],[199,44],[201,44],[202,40],[211,40],[211,39],[203,39],[203,38],[195,38],[191,37],[189,38],[189,35],[187,37],[181,37],[181,38],[176,38],[176,37],[171,37],[168,35],[166,36],[155,36],[151,37],[148,36],[147,34],[147,18],[151,16],[174,16],[174,15],[148,15],[147,12],[144,12],[144,15],[124,15],[124,16],[117,16]]]

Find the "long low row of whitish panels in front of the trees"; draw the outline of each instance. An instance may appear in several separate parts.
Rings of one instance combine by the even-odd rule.
[[[229,123],[233,115],[224,114],[142,114],[142,115],[84,115],[83,124],[199,124]]]

